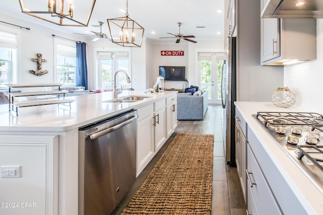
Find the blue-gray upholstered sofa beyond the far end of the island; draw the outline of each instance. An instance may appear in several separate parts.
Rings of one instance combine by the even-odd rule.
[[[177,94],[177,119],[178,120],[203,120],[207,110],[207,91],[199,94]]]

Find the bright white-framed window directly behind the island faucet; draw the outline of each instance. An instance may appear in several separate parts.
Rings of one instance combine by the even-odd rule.
[[[114,76],[118,70],[125,70],[131,78],[128,55],[127,51],[98,52],[99,89],[113,89]],[[124,73],[118,73],[116,83],[117,88],[131,88],[131,83],[127,83]]]

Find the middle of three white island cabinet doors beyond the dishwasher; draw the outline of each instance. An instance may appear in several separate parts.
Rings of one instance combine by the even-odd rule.
[[[154,114],[155,151],[158,151],[166,141],[166,108]]]

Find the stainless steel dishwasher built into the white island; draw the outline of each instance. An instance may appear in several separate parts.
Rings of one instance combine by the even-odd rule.
[[[136,180],[137,111],[79,128],[79,214],[110,214]]]

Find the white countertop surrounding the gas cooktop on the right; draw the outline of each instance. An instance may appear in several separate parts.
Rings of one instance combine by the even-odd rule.
[[[299,111],[307,110],[297,107],[279,108],[271,102],[235,102],[236,107],[245,118],[250,129],[259,139],[263,148],[284,176],[285,180],[300,200],[308,214],[323,213],[323,193],[317,188],[287,154],[276,144],[274,139],[259,125],[252,114],[265,111]],[[293,204],[293,202],[291,202]]]

